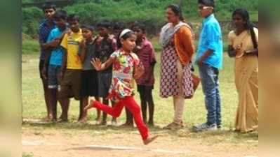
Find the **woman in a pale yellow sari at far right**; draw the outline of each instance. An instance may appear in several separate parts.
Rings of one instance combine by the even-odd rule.
[[[232,15],[236,30],[229,33],[229,56],[235,57],[235,84],[239,95],[236,131],[258,129],[258,29],[245,9]]]

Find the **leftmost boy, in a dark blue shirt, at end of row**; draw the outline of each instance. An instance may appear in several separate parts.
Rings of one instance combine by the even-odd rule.
[[[47,108],[47,117],[46,120],[51,119],[51,105],[50,101],[48,100],[48,81],[46,77],[43,76],[43,71],[46,61],[48,60],[46,57],[47,52],[50,51],[49,45],[46,45],[46,41],[48,39],[48,34],[51,32],[52,29],[55,28],[55,24],[53,22],[53,14],[55,13],[55,6],[51,3],[46,3],[43,8],[43,13],[45,16],[45,20],[39,26],[39,44],[41,46],[41,54],[40,54],[40,61],[39,61],[39,73],[44,87],[44,98]]]

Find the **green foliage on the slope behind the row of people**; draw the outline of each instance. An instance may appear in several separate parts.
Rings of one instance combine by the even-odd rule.
[[[28,1],[28,0],[26,0]],[[32,0],[30,0],[32,1]],[[158,33],[166,22],[164,11],[170,3],[179,3],[180,0],[74,0],[72,6],[63,10],[67,13],[76,13],[81,17],[81,23],[95,25],[100,20],[112,22],[121,21],[131,24],[135,21],[143,22],[147,31]],[[258,0],[216,0],[215,14],[220,21],[231,20],[235,8],[247,8],[253,21],[258,21]],[[183,1],[183,14],[187,21],[201,22],[197,11],[197,0]],[[39,22],[43,18],[39,8],[22,9],[22,31],[31,36],[36,34]]]

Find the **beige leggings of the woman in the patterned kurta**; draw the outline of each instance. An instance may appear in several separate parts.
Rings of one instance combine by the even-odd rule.
[[[173,105],[174,105],[174,119],[173,122],[176,124],[181,124],[182,123],[182,115],[184,112],[184,105],[185,105],[185,98],[183,96],[182,92],[182,64],[180,63],[180,60],[177,60],[177,69],[178,69],[178,83],[180,87],[180,94],[179,96],[173,96]]]

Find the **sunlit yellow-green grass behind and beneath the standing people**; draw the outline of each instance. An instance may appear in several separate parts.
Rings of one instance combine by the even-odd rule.
[[[152,43],[155,47],[159,47],[155,39]],[[41,119],[46,117],[46,106],[44,103],[44,95],[38,70],[39,53],[22,55],[22,117],[23,119]],[[184,122],[186,128],[184,130],[162,130],[162,126],[173,120],[173,100],[172,98],[159,97],[159,76],[160,76],[160,52],[156,52],[156,67],[154,85],[154,122],[156,126],[149,128],[151,134],[161,136],[171,136],[178,138],[199,138],[211,145],[215,142],[231,142],[237,144],[239,142],[248,143],[252,147],[258,147],[258,133],[241,134],[233,132],[234,120],[237,106],[237,94],[234,85],[234,61],[224,54],[224,67],[220,70],[220,93],[222,98],[222,124],[225,130],[215,133],[193,133],[190,128],[194,124],[200,124],[206,121],[206,109],[204,105],[204,95],[202,94],[201,85],[196,90],[194,98],[185,100]],[[195,73],[198,73],[195,67]],[[135,99],[140,103],[138,93]],[[60,114],[60,105],[58,105],[58,115]],[[135,128],[119,128],[114,126],[96,126],[93,124],[77,124],[76,119],[79,115],[79,102],[72,100],[69,108],[69,121],[67,124],[29,124],[23,123],[22,130],[32,132],[35,135],[44,135],[47,131],[55,133],[60,131],[67,137],[74,137],[78,132],[86,133],[92,137],[107,134],[138,134]],[[94,121],[96,111],[91,110],[88,115],[89,121]],[[111,121],[111,117],[107,118]],[[119,124],[125,121],[125,112],[118,118]],[[253,143],[252,143],[253,142]],[[27,155],[28,157],[30,155]],[[27,157],[26,156],[26,157]]]

